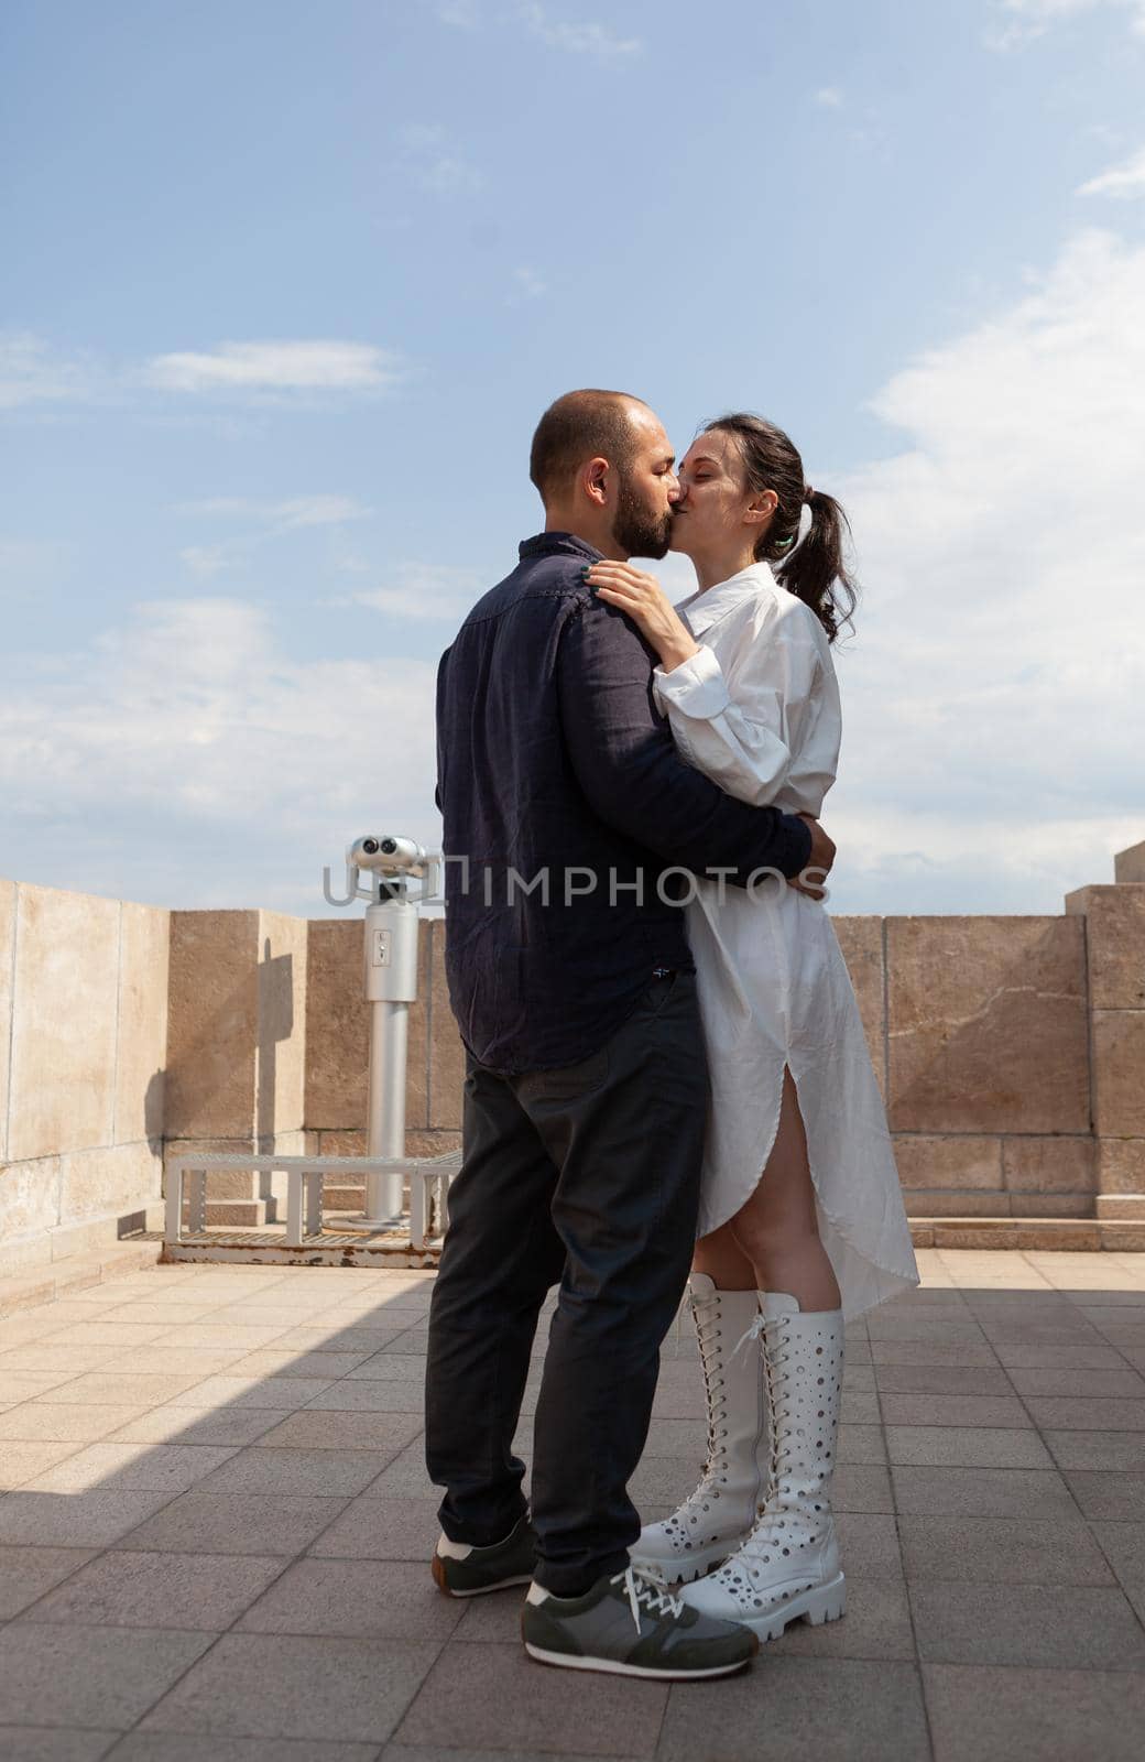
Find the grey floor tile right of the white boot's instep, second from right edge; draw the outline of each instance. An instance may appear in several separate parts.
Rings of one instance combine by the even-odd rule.
[[[1112,1584],[1087,1524],[1043,1517],[900,1517],[907,1579]]]

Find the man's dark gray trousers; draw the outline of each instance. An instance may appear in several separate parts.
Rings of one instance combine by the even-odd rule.
[[[696,1246],[706,1107],[691,973],[650,980],[580,1064],[497,1077],[469,1059],[430,1307],[426,1464],[453,1542],[486,1547],[521,1517],[513,1434],[537,1314],[560,1283],[530,1501],[537,1581],[557,1596],[620,1572],[639,1535],[627,1484]]]

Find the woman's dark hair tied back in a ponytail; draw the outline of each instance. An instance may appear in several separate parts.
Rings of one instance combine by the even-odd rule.
[[[851,622],[858,599],[856,583],[847,569],[844,536],[851,527],[833,495],[823,490],[807,493],[803,460],[794,442],[775,423],[749,411],[735,411],[705,423],[703,433],[735,435],[743,460],[747,488],[775,490],[779,507],[768,530],[756,544],[756,562],[770,562],[779,571],[779,581],[816,613],[828,641],[835,641],[840,624]],[[784,562],[800,536],[800,509],[810,506],[812,527],[800,548]]]

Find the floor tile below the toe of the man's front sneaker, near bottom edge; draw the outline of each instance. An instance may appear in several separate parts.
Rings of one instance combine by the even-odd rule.
[[[784,1658],[768,1647],[745,1676],[673,1688],[657,1750],[662,1762],[791,1762],[793,1757],[928,1762],[914,1665]]]

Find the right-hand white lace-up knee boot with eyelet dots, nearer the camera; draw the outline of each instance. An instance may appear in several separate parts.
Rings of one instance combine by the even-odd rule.
[[[789,1621],[819,1625],[846,1610],[831,1515],[842,1394],[842,1309],[802,1311],[761,1292],[756,1323],[772,1424],[772,1491],[752,1533],[719,1572],[680,1595],[694,1609],[779,1639]]]

